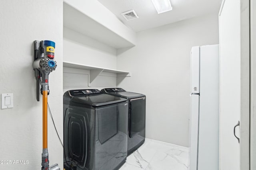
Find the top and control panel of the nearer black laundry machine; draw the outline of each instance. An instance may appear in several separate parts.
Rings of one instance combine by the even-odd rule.
[[[106,105],[118,104],[122,102],[126,102],[127,99],[120,98],[117,96],[111,96],[108,94],[103,94],[100,90],[97,89],[90,89],[89,91],[94,92],[90,93],[89,91],[84,90],[69,90],[69,94],[71,97],[71,102],[79,103],[79,104],[86,104],[92,107],[101,107]],[[76,91],[76,95],[74,95],[74,91]],[[88,94],[83,94],[83,92],[88,92]],[[82,93],[81,93],[82,92]],[[71,95],[73,94],[73,95]]]

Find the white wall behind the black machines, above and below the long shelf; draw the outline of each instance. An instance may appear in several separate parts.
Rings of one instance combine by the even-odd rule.
[[[73,63],[116,69],[116,49],[64,27],[63,59]],[[116,74],[100,73],[88,86],[89,70],[64,68],[63,93],[67,90],[116,86]],[[76,82],[76,83],[74,83]]]

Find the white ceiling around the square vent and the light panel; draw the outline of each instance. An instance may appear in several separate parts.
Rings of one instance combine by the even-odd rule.
[[[135,32],[210,13],[218,15],[222,2],[222,0],[170,0],[172,11],[157,14],[151,0],[98,1]],[[126,21],[121,13],[129,10],[135,10],[139,18]]]

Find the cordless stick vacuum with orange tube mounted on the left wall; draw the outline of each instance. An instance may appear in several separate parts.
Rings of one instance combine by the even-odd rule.
[[[34,41],[33,68],[36,76],[36,100],[39,101],[40,81],[42,81],[41,94],[43,95],[43,153],[42,170],[60,170],[58,164],[49,167],[47,149],[47,96],[50,93],[48,76],[57,67],[54,60],[55,43],[53,41]],[[42,79],[42,80],[41,80]]]

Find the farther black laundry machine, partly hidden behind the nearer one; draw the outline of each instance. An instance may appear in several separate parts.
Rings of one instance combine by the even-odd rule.
[[[104,88],[105,94],[128,100],[128,155],[138,149],[145,141],[146,96],[126,92],[122,88]]]

